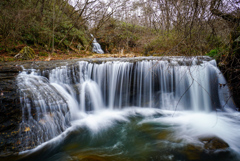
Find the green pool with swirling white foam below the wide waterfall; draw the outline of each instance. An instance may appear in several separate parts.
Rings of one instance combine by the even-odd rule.
[[[28,161],[237,161],[239,113],[175,112],[125,108],[81,113],[61,135],[18,159]],[[229,147],[209,149],[201,137],[218,137]]]

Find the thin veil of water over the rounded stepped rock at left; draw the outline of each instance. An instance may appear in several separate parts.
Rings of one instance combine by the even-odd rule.
[[[70,126],[69,107],[74,107],[74,100],[61,92],[61,86],[54,87],[47,78],[35,74],[23,72],[17,78],[22,104],[20,135],[24,138],[24,132],[27,133],[26,139],[21,140],[26,147],[39,145],[62,133]]]

